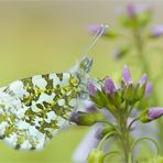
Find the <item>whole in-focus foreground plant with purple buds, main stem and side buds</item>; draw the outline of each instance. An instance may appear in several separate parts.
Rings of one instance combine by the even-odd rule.
[[[110,137],[116,137],[121,141],[121,151],[124,155],[123,161],[129,162],[129,160],[133,159],[129,156],[132,153],[130,131],[135,129],[133,123],[137,120],[140,120],[142,123],[150,122],[163,115],[163,108],[151,107],[144,108],[141,112],[138,110],[138,115],[133,117],[132,113],[133,118],[131,118],[131,112],[133,109],[137,109],[137,104],[151,93],[152,85],[148,82],[148,75],[142,75],[139,82],[135,83],[128,66],[123,66],[119,85],[116,85],[111,77],[106,77],[99,83],[89,82],[87,87],[89,98],[95,105],[94,109],[88,112],[78,111],[74,113],[70,121],[79,126],[102,123],[95,134],[95,138],[100,140],[99,145],[90,151],[88,162],[94,163],[95,160],[98,160],[99,163],[104,162],[107,154],[101,149],[101,144]],[[112,115],[115,121],[107,117],[107,112],[100,111],[104,108]],[[119,152],[121,153],[121,151]],[[115,151],[110,153],[112,152],[115,153]]]

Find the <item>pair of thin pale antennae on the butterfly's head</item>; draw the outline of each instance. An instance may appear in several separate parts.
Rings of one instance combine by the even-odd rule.
[[[87,48],[85,50],[85,52],[83,53],[83,57],[86,57],[89,50],[96,44],[96,42],[101,37],[101,35],[106,32],[108,25],[104,25],[101,24],[99,26],[99,30],[97,31],[97,33],[95,34],[95,36],[93,37],[93,40],[90,41],[90,43],[88,44]]]

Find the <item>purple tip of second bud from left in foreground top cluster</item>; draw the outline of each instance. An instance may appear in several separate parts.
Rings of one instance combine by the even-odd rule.
[[[106,80],[105,80],[105,91],[107,94],[110,94],[111,96],[113,96],[115,91],[116,91],[116,87],[115,87],[115,84],[112,82],[112,79],[110,77],[108,77]]]

